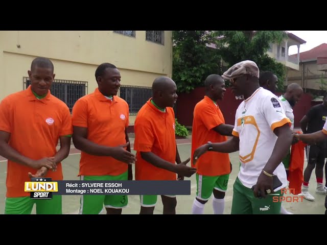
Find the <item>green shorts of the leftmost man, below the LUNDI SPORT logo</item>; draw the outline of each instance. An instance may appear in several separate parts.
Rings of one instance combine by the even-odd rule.
[[[62,214],[61,195],[52,195],[51,200],[36,200],[30,197],[6,198],[5,214],[31,214],[34,204],[36,214]]]

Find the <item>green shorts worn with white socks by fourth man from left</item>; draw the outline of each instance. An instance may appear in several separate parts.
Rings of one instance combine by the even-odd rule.
[[[226,192],[229,174],[222,176],[203,176],[196,173],[196,197],[207,201],[211,197],[213,190]]]

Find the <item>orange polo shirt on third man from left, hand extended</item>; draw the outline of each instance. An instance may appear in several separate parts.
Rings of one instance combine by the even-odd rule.
[[[176,173],[155,167],[141,157],[140,152],[152,152],[172,164],[176,159],[174,110],[166,107],[166,112],[160,111],[150,100],[138,111],[134,124],[135,180],[176,180]]]

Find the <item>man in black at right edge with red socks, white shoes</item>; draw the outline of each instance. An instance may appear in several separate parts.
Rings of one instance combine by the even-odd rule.
[[[322,129],[327,117],[327,92],[323,96],[323,102],[310,108],[307,115],[303,116],[300,126],[303,134],[314,133]],[[312,170],[316,166],[317,189],[316,193],[326,194],[326,188],[323,186],[323,165],[326,157],[326,140],[307,146],[308,165],[303,175],[302,193],[303,197],[309,201],[315,198],[309,193],[309,180]],[[327,169],[325,167],[325,176]],[[327,180],[327,178],[326,178]]]

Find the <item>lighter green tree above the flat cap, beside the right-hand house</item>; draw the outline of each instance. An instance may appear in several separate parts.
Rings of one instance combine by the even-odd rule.
[[[217,31],[223,36],[216,41],[221,58],[230,67],[243,60],[254,61],[260,70],[269,70],[278,78],[278,90],[284,90],[286,67],[267,55],[270,43],[281,43],[284,31]]]

